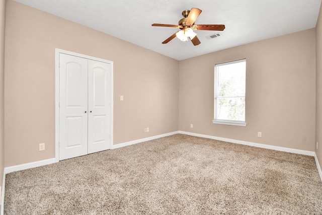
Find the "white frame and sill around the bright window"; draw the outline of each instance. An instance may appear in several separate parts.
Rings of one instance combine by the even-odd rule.
[[[225,119],[217,119],[217,98],[216,97],[218,95],[218,79],[216,79],[217,75],[217,69],[216,67],[219,65],[227,65],[227,64],[232,64],[232,63],[238,63],[238,62],[245,62],[246,63],[246,58],[245,59],[239,59],[239,60],[232,60],[232,61],[228,61],[228,62],[224,62],[224,63],[217,63],[215,64],[214,67],[214,116],[213,116],[213,120],[212,123],[214,124],[225,124],[225,125],[237,125],[237,126],[246,126],[246,85],[245,85],[245,121],[240,121],[240,120],[225,120]],[[247,67],[247,65],[246,65]],[[245,76],[246,76],[246,68],[245,68]],[[246,77],[245,77],[245,82],[246,82]],[[246,84],[246,83],[245,83]],[[233,97],[233,98],[237,98]],[[244,98],[244,97],[239,97],[239,98]]]

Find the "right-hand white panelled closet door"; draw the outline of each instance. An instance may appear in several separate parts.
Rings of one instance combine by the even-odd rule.
[[[110,149],[111,64],[88,60],[88,153]]]

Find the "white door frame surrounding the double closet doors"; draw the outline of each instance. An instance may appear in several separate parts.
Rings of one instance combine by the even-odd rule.
[[[101,61],[111,64],[111,95],[110,95],[110,148],[113,146],[113,61],[97,58],[85,54],[79,54],[76,52],[66,51],[63,49],[55,49],[55,162],[59,162],[59,54],[68,54],[76,57],[83,57],[86,59]]]

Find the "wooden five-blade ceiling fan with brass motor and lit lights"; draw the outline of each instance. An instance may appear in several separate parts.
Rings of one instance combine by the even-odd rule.
[[[163,44],[168,43],[176,36],[182,41],[188,41],[188,38],[194,45],[199,45],[200,40],[197,37],[197,34],[193,30],[208,30],[208,31],[223,31],[225,29],[225,25],[195,25],[195,21],[197,17],[201,14],[201,10],[198,8],[192,8],[191,11],[185,10],[182,12],[183,19],[179,21],[178,25],[167,25],[167,24],[152,24],[152,26],[159,27],[174,27],[179,28],[180,30],[173,35],[171,35],[168,39],[163,41]]]

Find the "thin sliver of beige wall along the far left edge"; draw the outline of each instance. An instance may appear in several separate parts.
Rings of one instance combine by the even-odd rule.
[[[5,69],[5,22],[6,0],[0,1],[0,186],[3,184],[5,168],[4,144],[4,69]],[[0,189],[0,195],[2,190]],[[1,203],[0,203],[1,204]],[[1,207],[0,206],[0,211]]]

